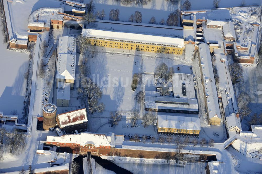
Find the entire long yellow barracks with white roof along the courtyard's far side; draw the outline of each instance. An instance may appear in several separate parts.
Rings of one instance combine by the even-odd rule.
[[[184,39],[112,30],[83,29],[91,45],[136,51],[182,54]]]

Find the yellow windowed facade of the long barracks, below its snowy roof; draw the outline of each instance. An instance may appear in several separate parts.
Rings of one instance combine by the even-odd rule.
[[[88,37],[88,42],[91,45],[108,47],[108,48],[118,48],[118,49],[128,49],[136,51],[154,52],[154,53],[165,53],[165,54],[182,54],[184,48],[178,48],[171,45],[160,45],[160,44],[150,44],[141,43],[134,41],[124,41],[124,40],[114,40],[106,38],[95,38]]]

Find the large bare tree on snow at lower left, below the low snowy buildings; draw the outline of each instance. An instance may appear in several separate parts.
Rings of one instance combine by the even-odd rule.
[[[20,154],[25,147],[25,136],[17,129],[13,129],[7,136],[7,147],[10,154]]]

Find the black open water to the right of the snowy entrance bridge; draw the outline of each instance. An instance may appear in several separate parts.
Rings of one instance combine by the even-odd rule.
[[[132,172],[123,169],[122,167],[119,167],[118,165],[114,164],[111,161],[108,161],[106,159],[102,159],[99,156],[92,156],[94,158],[95,162],[97,162],[100,166],[104,167],[107,170],[111,170],[115,172],[116,174],[133,174]]]

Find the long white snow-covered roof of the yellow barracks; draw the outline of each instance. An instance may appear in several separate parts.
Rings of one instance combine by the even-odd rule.
[[[171,36],[149,35],[141,33],[130,33],[110,30],[83,29],[82,35],[85,37],[103,38],[112,40],[123,40],[130,42],[140,42],[148,44],[160,44],[163,46],[184,47],[184,39]]]

